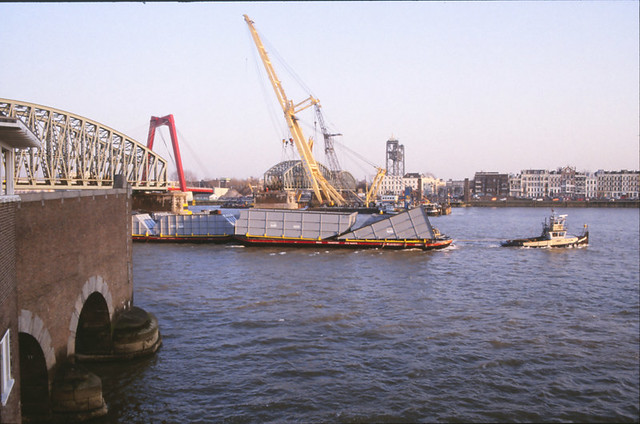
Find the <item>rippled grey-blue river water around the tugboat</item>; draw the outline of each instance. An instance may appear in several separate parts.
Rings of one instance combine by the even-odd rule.
[[[91,365],[100,423],[638,422],[639,211],[459,208],[444,251],[134,244],[163,346]]]

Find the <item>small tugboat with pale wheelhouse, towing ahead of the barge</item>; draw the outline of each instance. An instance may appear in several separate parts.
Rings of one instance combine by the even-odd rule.
[[[503,247],[574,247],[589,244],[587,225],[579,236],[567,236],[567,215],[555,215],[553,210],[549,220],[542,223],[542,234],[539,237],[507,240],[501,243]]]

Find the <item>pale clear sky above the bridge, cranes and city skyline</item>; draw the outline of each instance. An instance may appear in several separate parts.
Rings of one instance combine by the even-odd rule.
[[[146,143],[173,114],[184,169],[260,177],[296,158],[243,15],[294,103],[320,100],[343,169],[638,170],[638,1],[0,3],[0,98]],[[299,114],[326,163],[311,109]],[[171,159],[166,128],[154,150]],[[173,165],[172,165],[173,166]]]

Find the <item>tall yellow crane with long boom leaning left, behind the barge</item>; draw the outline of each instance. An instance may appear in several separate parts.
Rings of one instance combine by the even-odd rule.
[[[318,166],[318,162],[316,162],[313,157],[313,153],[311,151],[311,147],[313,145],[313,140],[309,139],[308,141],[305,139],[304,134],[302,133],[302,128],[298,124],[298,118],[296,117],[296,113],[307,109],[313,105],[319,103],[317,99],[313,96],[309,96],[308,99],[303,100],[298,104],[294,104],[293,101],[287,98],[287,95],[282,88],[282,84],[278,79],[273,66],[271,65],[271,60],[269,60],[269,56],[267,55],[267,51],[260,40],[260,36],[253,26],[253,21],[249,19],[247,15],[244,15],[244,20],[249,26],[249,30],[251,31],[251,36],[253,37],[253,41],[258,48],[258,53],[260,54],[260,58],[262,59],[262,63],[267,71],[267,75],[269,76],[269,81],[271,81],[271,85],[273,90],[276,92],[276,97],[278,98],[278,102],[282,107],[282,111],[284,112],[284,118],[287,121],[287,125],[289,126],[289,131],[291,132],[291,136],[293,138],[293,142],[298,150],[298,154],[300,155],[300,159],[302,161],[302,165],[307,173],[309,181],[311,182],[311,188],[313,189],[313,193],[316,196],[316,199],[321,204],[330,204],[336,206],[342,206],[346,203],[340,192],[333,187],[329,181],[322,175],[320,171],[320,167]]]

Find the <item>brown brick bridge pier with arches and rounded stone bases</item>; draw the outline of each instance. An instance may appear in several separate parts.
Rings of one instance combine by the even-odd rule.
[[[153,314],[133,306],[131,190],[0,200],[0,422],[104,415],[101,382],[79,362],[161,343]]]

